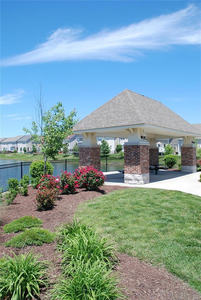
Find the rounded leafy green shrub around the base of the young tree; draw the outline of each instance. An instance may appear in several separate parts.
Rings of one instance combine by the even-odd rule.
[[[30,175],[31,175],[31,184],[33,188],[36,189],[37,185],[39,185],[42,175],[44,175],[44,165],[45,162],[43,160],[39,160],[31,163],[30,165]],[[53,167],[50,162],[46,162],[46,173],[52,174]]]

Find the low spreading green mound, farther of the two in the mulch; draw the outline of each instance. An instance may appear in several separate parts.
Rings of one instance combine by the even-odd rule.
[[[25,230],[26,228],[41,227],[42,223],[43,221],[36,217],[25,216],[6,224],[3,227],[3,230],[6,233],[19,232]]]

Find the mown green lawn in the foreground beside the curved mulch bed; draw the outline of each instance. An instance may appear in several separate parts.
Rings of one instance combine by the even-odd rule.
[[[76,216],[109,234],[117,250],[165,266],[201,292],[201,197],[132,188],[87,201]]]

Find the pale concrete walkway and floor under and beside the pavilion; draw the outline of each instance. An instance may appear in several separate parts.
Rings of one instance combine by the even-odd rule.
[[[155,188],[164,190],[179,190],[185,193],[201,196],[200,172],[186,174],[180,171],[159,170],[149,174],[149,183],[145,185],[128,185],[124,183],[124,174],[117,171],[104,172],[106,185],[122,185],[129,187]]]

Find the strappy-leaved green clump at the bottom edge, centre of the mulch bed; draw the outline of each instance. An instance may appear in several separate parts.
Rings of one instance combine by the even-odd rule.
[[[100,261],[81,264],[75,271],[69,270],[69,276],[60,279],[52,290],[52,300],[125,299],[117,287],[119,280],[111,269],[107,270]]]

